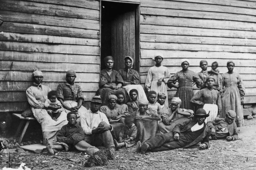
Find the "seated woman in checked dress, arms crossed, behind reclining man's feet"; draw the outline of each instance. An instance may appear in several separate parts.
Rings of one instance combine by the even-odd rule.
[[[139,110],[134,111],[131,116],[134,117],[138,129],[137,140],[144,143],[155,137],[158,121],[161,118],[158,114],[151,113],[148,110],[149,101],[146,99],[139,99],[138,104]]]

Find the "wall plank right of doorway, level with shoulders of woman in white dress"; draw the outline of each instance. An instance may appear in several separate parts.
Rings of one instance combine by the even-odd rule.
[[[182,70],[181,66],[168,66],[168,65],[164,65],[164,63],[162,65],[166,66],[169,69],[169,73],[170,74],[175,74],[178,71]],[[147,73],[150,67],[151,66],[141,66],[140,67],[140,72],[141,73]],[[227,73],[227,67],[221,66],[221,67],[218,67],[218,69],[219,69],[219,73],[220,74]],[[201,71],[199,66],[190,66],[189,70],[192,70],[192,71],[194,71],[196,73]],[[210,70],[210,68],[209,68],[209,70]],[[234,72],[239,73],[239,74],[255,73],[256,72],[256,67],[239,67],[239,66],[235,66]]]

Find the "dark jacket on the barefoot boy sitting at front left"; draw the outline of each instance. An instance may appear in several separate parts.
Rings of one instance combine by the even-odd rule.
[[[85,134],[82,127],[77,123],[74,126],[70,126],[68,123],[62,126],[61,130],[57,133],[57,141],[66,144],[76,145],[83,139],[85,139]]]

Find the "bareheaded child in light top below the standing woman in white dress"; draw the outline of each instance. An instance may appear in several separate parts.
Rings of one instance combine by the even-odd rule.
[[[162,115],[163,111],[161,105],[155,102],[157,93],[155,91],[149,91],[147,100],[149,101],[148,109],[151,113]]]

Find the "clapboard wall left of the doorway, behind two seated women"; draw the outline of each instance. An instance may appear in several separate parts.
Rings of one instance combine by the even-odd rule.
[[[28,107],[34,69],[56,89],[66,71],[77,72],[86,101],[98,89],[99,1],[0,0],[0,112]],[[88,102],[85,102],[88,106]],[[88,107],[87,107],[88,108]]]

